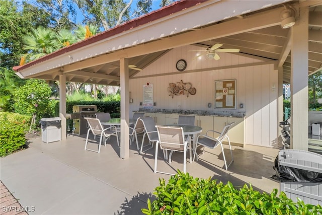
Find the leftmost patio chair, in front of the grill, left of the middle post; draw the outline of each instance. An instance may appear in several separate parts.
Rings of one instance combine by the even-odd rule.
[[[89,150],[89,151],[93,151],[93,152],[97,152],[100,153],[101,151],[101,144],[102,144],[102,139],[104,138],[104,146],[106,146],[106,141],[111,137],[111,136],[116,136],[116,140],[117,140],[117,145],[120,146],[119,144],[119,137],[117,134],[117,129],[115,126],[110,126],[108,128],[103,128],[101,121],[98,118],[87,118],[85,117],[85,119],[87,120],[90,128],[87,131],[87,136],[86,136],[86,142],[85,142],[85,150]],[[89,134],[90,131],[92,131],[92,133],[94,134],[94,139],[96,135],[100,135],[100,142],[99,142],[99,149],[98,151],[95,150],[91,150],[87,148],[87,144],[88,144],[88,140],[89,140]]]

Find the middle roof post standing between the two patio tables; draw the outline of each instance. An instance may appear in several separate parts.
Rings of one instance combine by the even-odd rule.
[[[129,158],[129,66],[128,59],[120,59],[120,81],[121,81],[121,154],[123,159]]]

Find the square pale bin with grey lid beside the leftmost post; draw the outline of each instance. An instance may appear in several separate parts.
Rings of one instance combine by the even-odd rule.
[[[42,141],[54,142],[61,140],[61,119],[59,117],[41,118],[41,137]]]

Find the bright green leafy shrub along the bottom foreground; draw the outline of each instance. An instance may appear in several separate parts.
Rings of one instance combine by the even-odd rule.
[[[228,182],[193,178],[178,170],[171,176],[168,184],[159,179],[160,186],[155,188],[157,199],[147,200],[145,214],[320,214],[322,207],[297,203],[277,189],[269,195],[253,190],[245,184],[237,190]]]

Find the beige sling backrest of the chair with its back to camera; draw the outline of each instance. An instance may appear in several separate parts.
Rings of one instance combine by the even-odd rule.
[[[160,148],[184,151],[185,138],[182,127],[156,125]]]

